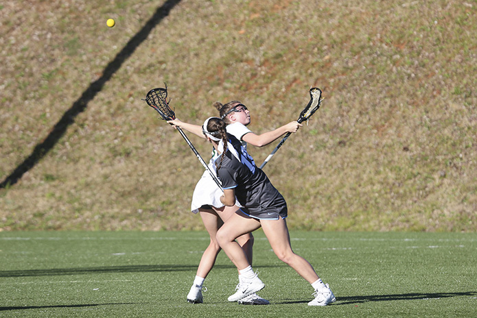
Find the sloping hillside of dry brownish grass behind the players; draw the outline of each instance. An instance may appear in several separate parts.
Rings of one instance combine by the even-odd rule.
[[[0,5],[0,182],[58,140],[0,189],[1,230],[202,229],[202,166],[141,101],[163,82],[183,121],[238,99],[256,133],[322,88],[264,168],[290,228],[477,230],[477,1],[29,3]]]

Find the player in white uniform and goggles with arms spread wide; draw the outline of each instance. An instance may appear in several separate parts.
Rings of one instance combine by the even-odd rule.
[[[232,134],[241,141],[242,145],[246,148],[246,144],[250,143],[256,147],[263,147],[277,140],[283,134],[288,132],[296,132],[301,124],[297,121],[292,121],[286,125],[283,125],[276,130],[265,132],[264,134],[255,134],[246,127],[251,123],[250,112],[240,101],[230,101],[222,105],[222,103],[214,103],[213,105],[220,112],[220,117],[227,123],[226,130],[229,134]],[[194,125],[191,123],[185,123],[178,119],[173,121],[167,121],[174,125],[174,127],[181,127],[187,132],[191,132],[200,138],[205,138],[205,134],[202,132],[202,126]],[[215,171],[214,161],[218,157],[218,153],[215,149],[212,151],[212,158],[209,162],[209,168],[211,171]],[[192,195],[191,211],[194,213],[200,212],[200,217],[205,225],[207,232],[209,232],[210,243],[207,249],[205,249],[200,263],[197,269],[196,278],[191,286],[189,294],[187,295],[187,301],[190,303],[202,303],[202,286],[205,278],[211,271],[218,253],[220,252],[220,246],[216,240],[216,234],[218,229],[222,226],[226,219],[229,219],[238,210],[240,204],[235,206],[224,206],[220,201],[222,196],[222,190],[209,175],[209,171],[205,171],[202,174],[202,178],[198,181],[194,194]],[[253,256],[253,235],[251,233],[244,234],[237,238],[237,243],[244,249],[244,252],[248,258],[248,261],[252,263]],[[255,293],[248,295],[244,299],[240,299],[240,304],[270,304],[268,300],[263,299]]]

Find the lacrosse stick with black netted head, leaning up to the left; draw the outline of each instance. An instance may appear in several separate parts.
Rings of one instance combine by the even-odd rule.
[[[174,114],[174,111],[172,111],[172,109],[169,107],[170,99],[167,101],[167,85],[165,85],[165,88],[154,88],[150,90],[146,95],[146,99],[143,100],[146,101],[149,106],[154,108],[156,112],[159,112],[163,120],[172,121],[173,119],[176,119],[176,114]],[[213,181],[215,181],[219,188],[223,191],[222,184],[220,184],[220,181],[217,179],[216,175],[213,174],[207,163],[205,163],[204,159],[202,159],[196,147],[192,145],[189,138],[187,138],[183,130],[181,130],[181,127],[176,126],[176,129],[181,133],[184,140],[187,142],[187,145],[189,145],[192,151],[194,151],[194,154],[197,156],[202,166],[209,171]]]

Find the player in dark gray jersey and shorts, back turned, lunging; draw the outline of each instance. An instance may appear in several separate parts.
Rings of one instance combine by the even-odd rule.
[[[272,186],[266,174],[255,166],[253,158],[240,147],[239,141],[226,133],[225,127],[226,123],[217,117],[207,119],[202,125],[205,136],[220,154],[215,162],[216,173],[224,188],[220,201],[225,206],[233,206],[236,197],[242,205],[216,235],[220,247],[240,273],[237,292],[229,297],[229,302],[240,301],[265,287],[235,241],[237,237],[258,228],[264,230],[278,258],[312,285],[314,299],[308,303],[309,306],[326,306],[335,302],[333,292],[318,277],[310,262],[292,251],[285,221],[288,215],[285,199]]]

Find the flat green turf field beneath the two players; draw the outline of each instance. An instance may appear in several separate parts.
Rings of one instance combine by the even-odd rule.
[[[477,234],[291,232],[294,251],[337,301],[312,289],[255,233],[254,267],[269,306],[226,301],[237,273],[221,253],[205,304],[185,296],[205,232],[1,232],[1,317],[472,317]]]

